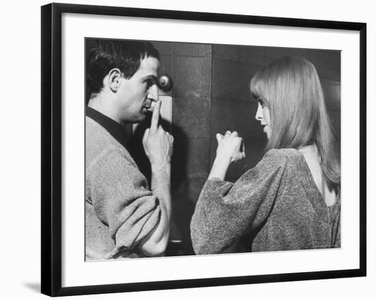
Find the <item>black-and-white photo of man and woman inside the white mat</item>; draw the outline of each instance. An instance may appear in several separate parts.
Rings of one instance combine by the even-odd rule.
[[[340,74],[331,49],[85,38],[85,260],[340,248]]]

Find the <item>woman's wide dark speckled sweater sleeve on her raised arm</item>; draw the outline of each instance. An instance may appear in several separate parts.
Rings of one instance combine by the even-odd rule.
[[[196,254],[223,253],[269,215],[281,189],[288,157],[270,150],[237,182],[207,180],[191,219]]]

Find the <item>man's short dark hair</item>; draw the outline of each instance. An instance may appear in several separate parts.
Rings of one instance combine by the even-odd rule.
[[[96,40],[87,57],[87,95],[97,94],[103,89],[103,79],[113,68],[119,68],[129,79],[138,70],[142,59],[155,57],[159,52],[150,42],[132,40]]]

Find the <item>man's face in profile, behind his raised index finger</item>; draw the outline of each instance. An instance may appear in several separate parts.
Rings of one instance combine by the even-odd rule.
[[[157,75],[159,60],[155,57],[142,59],[133,77],[121,77],[118,90],[118,119],[120,122],[139,123],[145,119],[153,101],[157,101]]]

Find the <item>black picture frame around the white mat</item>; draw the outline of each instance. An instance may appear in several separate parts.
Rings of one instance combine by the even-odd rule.
[[[133,16],[185,21],[211,21],[276,25],[317,29],[343,29],[360,33],[360,257],[359,269],[284,273],[237,277],[186,279],[164,282],[137,282],[96,286],[62,287],[62,14]],[[366,276],[366,24],[275,18],[206,12],[150,10],[96,5],[51,3],[42,6],[42,239],[41,290],[52,297],[108,292],[131,292],[171,288],[289,282]]]

